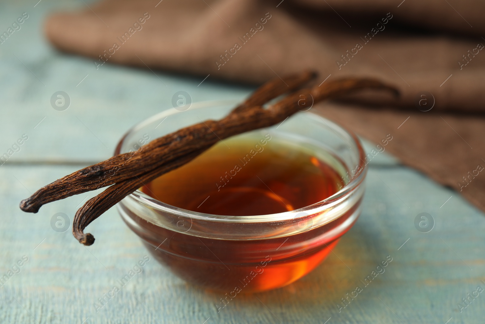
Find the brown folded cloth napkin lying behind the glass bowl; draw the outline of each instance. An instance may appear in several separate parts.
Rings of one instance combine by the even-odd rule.
[[[315,107],[485,211],[485,2],[481,0],[105,0],[49,17],[63,51],[262,83],[303,68],[320,82],[377,77],[367,92]],[[352,104],[349,104],[353,102]]]

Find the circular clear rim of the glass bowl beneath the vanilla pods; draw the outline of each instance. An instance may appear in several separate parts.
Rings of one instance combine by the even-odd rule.
[[[241,100],[210,100],[210,101],[202,101],[202,102],[193,102],[192,105],[189,107],[189,109],[186,109],[184,111],[193,110],[193,109],[210,108],[210,107],[221,107],[226,105],[236,105],[240,102]],[[156,120],[160,120],[162,118],[166,118],[168,116],[175,115],[182,112],[183,111],[175,108],[169,108],[138,122],[137,124],[132,126],[121,137],[118,144],[116,145],[114,154],[116,155],[121,153],[121,148],[123,146],[124,141],[127,139],[127,137],[129,137],[134,132],[137,132],[143,129],[146,125],[153,123]],[[362,143],[354,132],[344,128],[343,126],[339,125],[334,121],[325,119],[323,116],[309,111],[300,112],[299,114],[301,113],[309,114],[313,116],[313,118],[316,120],[320,119],[321,121],[323,121],[324,124],[326,124],[327,127],[332,129],[332,131],[334,132],[335,130],[331,126],[333,126],[336,129],[339,129],[340,131],[343,131],[346,135],[350,136],[353,143],[356,146],[356,149],[359,155],[358,157],[359,163],[358,165],[356,165],[356,168],[354,169],[354,170],[357,170],[357,173],[355,175],[349,174],[351,178],[347,184],[345,184],[338,192],[334,193],[330,197],[327,197],[320,202],[317,202],[302,208],[294,209],[291,211],[285,211],[285,212],[275,213],[275,214],[254,215],[254,216],[227,216],[227,215],[206,214],[206,213],[196,212],[196,211],[192,211],[184,208],[179,208],[173,205],[165,204],[137,189],[131,194],[129,194],[127,197],[125,197],[120,203],[123,203],[123,201],[126,199],[130,199],[130,200],[134,200],[137,203],[147,205],[158,211],[175,214],[177,216],[186,217],[191,220],[229,222],[229,223],[279,222],[279,221],[295,220],[299,218],[305,218],[308,215],[319,213],[325,209],[338,205],[342,201],[342,199],[345,198],[345,196],[350,195],[356,188],[359,187],[359,185],[363,182],[365,175],[367,173],[368,167],[367,167],[367,164],[364,163],[366,156],[364,153],[364,149],[362,147]],[[339,136],[337,133],[335,134]],[[344,142],[343,139],[342,139],[342,142]],[[355,151],[355,149],[352,149],[352,150]],[[351,170],[349,170],[349,172],[350,171]]]

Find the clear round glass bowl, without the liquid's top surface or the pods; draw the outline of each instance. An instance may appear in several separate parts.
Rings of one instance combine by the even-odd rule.
[[[201,120],[221,119],[236,104],[199,102],[186,111],[163,111],[129,130],[115,153],[137,150],[148,136],[149,141]],[[353,133],[311,112],[261,132],[331,156],[346,185],[313,205],[257,216],[204,214],[133,192],[117,205],[122,219],[157,260],[188,282],[231,296],[283,287],[313,270],[360,214],[367,169]]]

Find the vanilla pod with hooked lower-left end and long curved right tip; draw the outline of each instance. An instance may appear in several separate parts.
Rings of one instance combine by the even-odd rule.
[[[364,88],[386,89],[398,95],[399,92],[395,87],[385,85],[379,81],[372,79],[341,79],[328,82],[325,86],[315,86],[310,89],[303,89],[297,91],[281,101],[270,106],[268,109],[263,109],[261,106],[249,107],[240,112],[231,112],[225,118],[219,121],[206,121],[206,126],[210,127],[213,132],[217,132],[217,138],[226,138],[235,134],[244,133],[254,129],[269,127],[278,122],[285,120],[287,117],[298,112],[298,102],[302,99],[313,99],[313,102],[319,102],[323,99],[337,97],[350,91],[355,91]],[[193,154],[185,155],[185,158],[174,159],[171,163],[163,165],[157,169],[153,169],[141,177],[135,177],[116,183],[112,187],[106,189],[96,197],[88,200],[76,213],[73,222],[73,235],[82,244],[91,245],[94,242],[94,237],[90,234],[84,234],[84,228],[92,221],[97,219],[101,214],[108,210],[111,206],[117,204],[124,197],[140,188],[142,184],[150,182],[159,177],[163,173],[176,169],[186,162],[192,160],[198,154],[204,152],[213,143],[213,135],[204,133],[206,137],[196,136],[199,149],[195,149]],[[204,147],[203,149],[200,149]],[[184,162],[186,161],[186,162]]]

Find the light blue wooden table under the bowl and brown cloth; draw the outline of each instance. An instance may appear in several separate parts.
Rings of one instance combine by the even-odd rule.
[[[485,322],[485,292],[475,292],[478,297],[469,298],[461,312],[457,305],[477,286],[485,289],[484,214],[386,153],[370,163],[356,225],[321,266],[290,286],[238,295],[218,313],[215,305],[222,296],[186,284],[151,259],[97,309],[97,299],[147,254],[140,240],[114,208],[90,225],[96,236],[90,247],[73,239],[70,230],[51,228],[54,214],[63,212],[72,221],[94,193],[46,205],[37,214],[20,211],[19,201],[109,157],[130,126],[170,107],[176,91],[186,91],[198,102],[242,99],[252,89],[210,77],[200,84],[202,78],[160,71],[155,75],[111,65],[96,70],[89,59],[54,51],[41,34],[49,11],[84,4],[36,2],[0,4],[0,31],[23,12],[29,14],[21,29],[0,45],[0,155],[23,134],[28,136],[20,151],[0,166],[0,276],[7,275],[0,281],[0,323]],[[60,90],[71,98],[65,111],[50,105],[51,95]],[[421,212],[434,218],[428,233],[414,225]],[[392,262],[385,272],[364,287],[361,280],[387,256]],[[341,299],[356,286],[362,291],[343,308]]]

